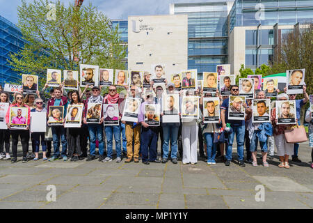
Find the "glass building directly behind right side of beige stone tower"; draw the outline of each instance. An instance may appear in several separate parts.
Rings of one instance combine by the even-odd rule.
[[[188,14],[188,69],[215,72],[227,63],[227,1],[174,3],[170,14]]]

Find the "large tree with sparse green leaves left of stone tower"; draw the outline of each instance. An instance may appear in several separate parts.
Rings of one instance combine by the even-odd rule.
[[[91,3],[77,8],[65,7],[59,0],[22,0],[17,10],[17,26],[26,43],[22,51],[10,55],[9,62],[21,74],[39,75],[40,87],[46,82],[47,68],[79,70],[83,63],[125,69],[126,48],[118,28],[112,29],[110,20]]]

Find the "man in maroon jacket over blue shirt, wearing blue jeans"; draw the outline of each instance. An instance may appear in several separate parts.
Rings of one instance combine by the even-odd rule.
[[[63,106],[64,107],[64,114],[63,118],[66,116],[66,110],[67,110],[67,98],[62,95],[62,89],[61,87],[56,87],[54,89],[54,98],[51,98],[49,100],[48,106],[47,106],[47,112],[49,112],[50,106]],[[57,111],[56,111],[57,112]],[[49,116],[49,114],[47,114]],[[57,115],[57,114],[56,114]],[[61,156],[63,157],[63,161],[67,161],[67,140],[66,140],[66,131],[63,125],[52,125],[52,136],[53,136],[53,143],[54,143],[54,155],[49,159],[49,161],[57,160],[60,155],[60,138],[61,138],[61,144],[62,144],[62,152]]]

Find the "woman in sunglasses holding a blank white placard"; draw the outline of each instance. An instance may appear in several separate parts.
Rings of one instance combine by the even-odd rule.
[[[43,100],[41,98],[35,99],[35,108],[31,109],[31,112],[46,112],[47,109],[43,107]],[[39,159],[39,146],[40,146],[40,137],[41,137],[41,148],[42,148],[42,156],[43,161],[48,160],[47,159],[47,144],[45,141],[45,133],[46,132],[32,132],[33,135],[33,141],[35,142],[35,157],[33,158],[34,161],[37,161]]]

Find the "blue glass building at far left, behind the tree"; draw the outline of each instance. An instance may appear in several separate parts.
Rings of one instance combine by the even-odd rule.
[[[24,47],[19,28],[0,15],[0,84],[19,82],[21,76],[13,71],[8,60],[10,53],[17,53]]]

